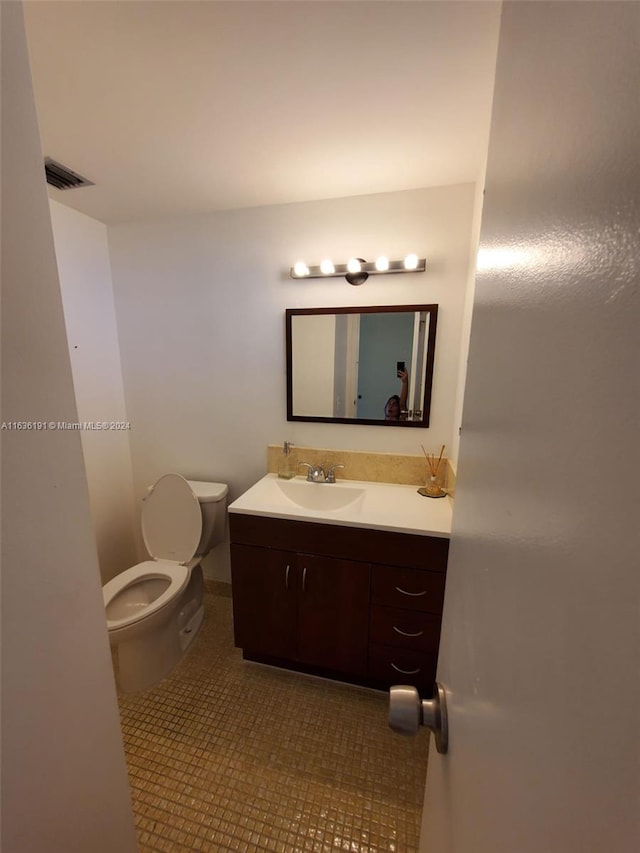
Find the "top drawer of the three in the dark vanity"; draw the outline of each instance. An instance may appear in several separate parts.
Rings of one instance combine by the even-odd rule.
[[[397,566],[371,567],[371,600],[374,604],[442,613],[445,575],[399,569]]]

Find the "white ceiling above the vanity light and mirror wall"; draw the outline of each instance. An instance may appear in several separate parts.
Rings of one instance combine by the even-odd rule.
[[[43,153],[105,223],[475,181],[500,3],[27,0]]]

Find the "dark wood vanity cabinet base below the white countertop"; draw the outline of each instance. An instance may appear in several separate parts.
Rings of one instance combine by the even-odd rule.
[[[431,694],[448,539],[229,518],[234,635],[245,658]]]

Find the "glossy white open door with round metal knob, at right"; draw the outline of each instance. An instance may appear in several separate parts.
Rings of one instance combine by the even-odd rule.
[[[505,3],[423,853],[640,850],[638,3]]]

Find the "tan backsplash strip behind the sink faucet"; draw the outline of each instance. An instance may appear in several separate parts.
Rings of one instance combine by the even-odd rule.
[[[317,447],[297,447],[292,445],[292,464],[299,466],[300,462],[310,465],[344,465],[338,468],[338,480],[367,480],[373,483],[404,483],[408,486],[424,486],[429,476],[427,462],[422,455],[401,453],[370,453],[359,450],[323,450]],[[267,470],[277,474],[282,463],[282,445],[267,447]],[[300,469],[304,474],[305,469]],[[453,496],[455,491],[455,475],[449,460],[442,459],[442,486]]]

